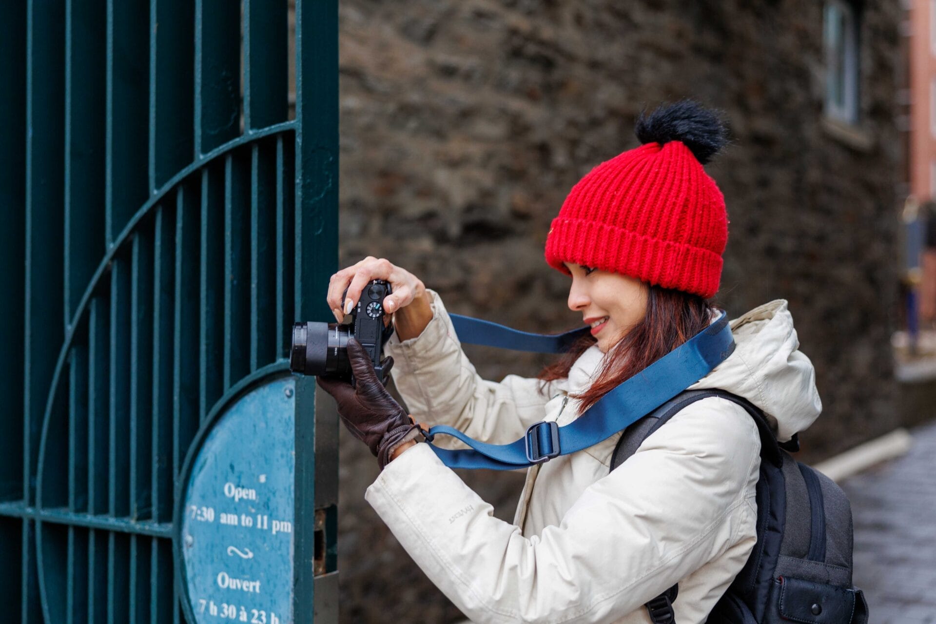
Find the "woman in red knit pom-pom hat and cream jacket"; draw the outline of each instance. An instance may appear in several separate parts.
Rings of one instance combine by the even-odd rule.
[[[702,166],[724,145],[724,129],[710,111],[680,102],[641,117],[636,134],[643,145],[592,169],[552,222],[548,264],[570,276],[568,306],[592,337],[539,379],[480,379],[438,295],[387,260],[367,258],[333,276],[336,314],[370,280],[392,284],[385,307],[396,335],[386,351],[417,421],[492,443],[513,442],[540,420],[563,426],[714,320],[709,298],[718,290],[727,218]],[[778,439],[789,440],[821,405],[786,302],[756,308],[731,327],[734,354],[692,387],[752,401]],[[760,442],[737,404],[696,401],[614,471],[620,434],[534,466],[508,524],[417,443],[418,428],[376,382],[366,356],[357,345],[348,351],[357,390],[319,383],[380,460],[366,499],[473,621],[647,622],[642,605],[679,583],[675,621],[700,623],[748,558]]]

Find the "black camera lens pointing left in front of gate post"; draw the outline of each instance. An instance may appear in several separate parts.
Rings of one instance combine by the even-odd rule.
[[[337,323],[296,323],[289,351],[289,370],[306,375],[341,374],[351,370],[347,356],[351,331],[351,326]]]

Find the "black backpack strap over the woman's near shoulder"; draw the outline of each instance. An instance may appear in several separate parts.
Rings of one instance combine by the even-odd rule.
[[[748,399],[734,395],[726,390],[712,388],[682,392],[653,410],[651,414],[647,414],[630,427],[624,429],[621,439],[618,441],[617,446],[614,447],[614,454],[611,456],[611,470],[613,471],[620,466],[625,459],[634,455],[640,444],[649,438],[651,433],[663,427],[670,418],[679,414],[680,410],[687,405],[695,403],[697,400],[709,399],[710,397],[730,400],[743,407],[748,414],[751,414],[754,423],[757,425],[757,432],[761,439],[761,457],[768,459],[768,461],[777,466],[782,465],[780,445],[777,443],[777,438],[774,436],[773,431],[770,430],[767,417],[760,408]]]

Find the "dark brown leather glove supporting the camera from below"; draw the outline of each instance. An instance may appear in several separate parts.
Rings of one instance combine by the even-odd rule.
[[[335,398],[344,426],[368,445],[383,470],[397,446],[417,438],[419,426],[377,379],[371,358],[360,342],[352,338],[347,349],[358,387],[327,377],[319,377],[317,383]],[[393,358],[388,357],[384,362],[384,370],[389,372]]]

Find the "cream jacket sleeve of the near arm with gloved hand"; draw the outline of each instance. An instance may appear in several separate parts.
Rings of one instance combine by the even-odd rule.
[[[530,538],[493,517],[428,444],[388,464],[366,499],[472,621],[612,622],[728,548],[740,570],[754,542],[759,447],[741,408],[698,401]],[[714,583],[712,603],[728,582]]]

